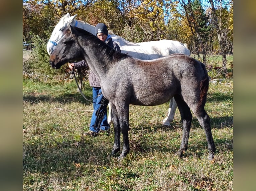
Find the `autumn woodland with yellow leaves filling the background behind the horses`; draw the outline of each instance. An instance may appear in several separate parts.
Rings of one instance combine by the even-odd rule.
[[[69,12],[94,26],[103,22],[131,42],[176,40],[198,55],[220,52],[225,61],[224,52],[232,52],[233,47],[233,0],[204,1],[209,2],[208,6],[201,0],[189,0],[191,5],[197,3],[206,10],[191,7],[193,14],[187,15],[182,2],[187,5],[188,0],[23,0],[23,41],[32,42],[31,35],[35,34],[47,43],[56,23]],[[225,2],[225,6],[220,7],[218,2]],[[203,14],[209,20],[200,17]],[[212,27],[211,33],[204,26]]]

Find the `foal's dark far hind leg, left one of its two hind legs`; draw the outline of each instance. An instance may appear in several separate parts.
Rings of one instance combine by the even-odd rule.
[[[175,100],[180,112],[181,122],[183,124],[183,134],[182,134],[180,148],[175,153],[175,155],[181,157],[182,154],[185,152],[185,150],[187,150],[188,137],[189,137],[191,121],[192,121],[192,114],[186,102],[183,99],[181,99],[179,95],[175,95]]]

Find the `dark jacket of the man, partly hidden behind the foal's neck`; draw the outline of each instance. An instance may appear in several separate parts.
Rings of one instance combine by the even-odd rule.
[[[105,43],[109,45],[111,48],[115,49],[116,51],[121,52],[120,47],[118,46],[118,44],[112,41],[112,38],[110,37],[110,35],[108,35]],[[75,62],[74,68],[75,69],[88,68],[88,65],[85,62],[85,60],[82,60],[80,62]],[[90,86],[92,87],[100,87],[100,81],[92,71],[89,74],[89,83],[90,83]]]

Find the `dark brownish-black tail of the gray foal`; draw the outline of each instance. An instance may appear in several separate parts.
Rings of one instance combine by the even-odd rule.
[[[199,105],[198,105],[198,111],[204,109],[205,103],[206,103],[206,96],[209,88],[209,77],[207,70],[205,68],[205,65],[201,63],[201,66],[204,70],[204,76],[203,79],[200,81],[200,99],[199,99]]]

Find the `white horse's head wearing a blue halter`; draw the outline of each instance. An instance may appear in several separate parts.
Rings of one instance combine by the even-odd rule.
[[[49,55],[51,55],[55,46],[58,44],[59,40],[63,37],[63,31],[65,28],[67,28],[67,24],[70,23],[71,26],[77,25],[77,21],[75,20],[76,16],[77,14],[75,14],[74,16],[70,16],[70,14],[67,13],[67,15],[61,17],[58,24],[53,29],[50,39],[46,45],[46,49]]]

